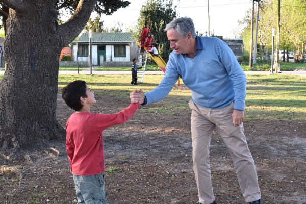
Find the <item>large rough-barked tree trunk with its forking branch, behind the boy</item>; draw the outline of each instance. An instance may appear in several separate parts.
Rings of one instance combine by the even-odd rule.
[[[16,9],[19,4],[10,8],[4,41],[7,67],[0,84],[3,151],[64,138],[65,130],[56,119],[59,56],[82,31],[96,1],[80,1],[63,25],[57,23],[55,1],[22,2],[24,8]]]

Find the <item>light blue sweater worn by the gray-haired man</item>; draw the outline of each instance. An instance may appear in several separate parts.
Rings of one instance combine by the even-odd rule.
[[[165,98],[181,77],[192,91],[192,101],[205,109],[220,109],[235,101],[235,110],[244,110],[246,77],[230,47],[216,37],[197,36],[193,59],[170,54],[164,78],[145,93],[146,104]]]

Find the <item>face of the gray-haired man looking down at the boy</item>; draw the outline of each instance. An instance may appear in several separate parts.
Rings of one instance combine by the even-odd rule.
[[[183,38],[177,33],[176,29],[169,29],[167,31],[168,40],[170,40],[170,47],[174,49],[176,54],[188,54],[189,52],[189,37]]]

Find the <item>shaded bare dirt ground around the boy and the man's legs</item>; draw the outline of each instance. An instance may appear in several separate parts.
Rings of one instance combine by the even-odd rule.
[[[92,112],[116,113],[128,99],[96,96]],[[192,169],[190,110],[174,115],[141,107],[126,123],[104,131],[106,192],[109,203],[196,203]],[[61,125],[73,113],[58,97]],[[247,116],[246,116],[247,117]],[[306,203],[305,121],[252,120],[244,123],[257,165],[262,203]],[[0,203],[75,203],[65,141],[0,155]],[[116,172],[116,170],[118,172]],[[215,131],[211,172],[216,203],[246,203],[231,157]]]

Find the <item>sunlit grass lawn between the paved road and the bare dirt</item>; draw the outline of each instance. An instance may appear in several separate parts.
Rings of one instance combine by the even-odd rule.
[[[0,74],[0,80],[2,78],[3,74]],[[144,92],[154,89],[162,78],[163,75],[146,75],[145,82],[135,87],[130,85],[130,75],[60,74],[58,91],[60,93],[69,82],[85,80],[96,95],[129,97],[130,92],[136,88],[141,88]],[[171,110],[189,108],[191,91],[185,87],[182,80],[180,83],[181,87],[177,87],[176,84],[169,95],[159,102],[161,103],[159,108],[149,109],[149,111],[169,114]],[[306,120],[305,77],[285,74],[247,74],[246,92],[246,120],[267,118]]]

